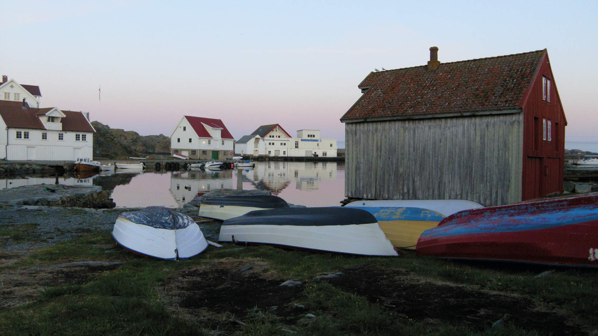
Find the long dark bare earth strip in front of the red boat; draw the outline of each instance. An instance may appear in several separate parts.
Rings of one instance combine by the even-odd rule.
[[[483,330],[508,314],[509,322],[541,334],[587,335],[568,325],[554,311],[536,310],[528,298],[481,291],[447,283],[432,283],[406,271],[364,265],[343,270],[328,283],[344,291],[367,297],[405,318],[468,325]]]

